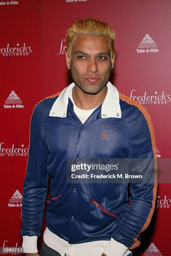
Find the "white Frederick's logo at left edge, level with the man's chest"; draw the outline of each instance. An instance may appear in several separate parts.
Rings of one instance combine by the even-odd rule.
[[[28,148],[24,144],[20,147],[15,147],[14,144],[10,148],[4,146],[4,142],[0,143],[0,156],[28,156]]]

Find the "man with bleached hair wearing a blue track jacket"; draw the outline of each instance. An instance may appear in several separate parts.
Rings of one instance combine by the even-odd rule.
[[[108,82],[114,39],[107,23],[77,20],[67,31],[74,82],[34,108],[20,232],[26,256],[38,255],[48,176],[40,255],[131,255],[151,221],[156,182],[131,184],[130,197],[127,183],[66,182],[67,159],[156,158],[147,111]]]

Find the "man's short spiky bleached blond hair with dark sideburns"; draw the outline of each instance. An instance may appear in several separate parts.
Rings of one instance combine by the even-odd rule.
[[[78,34],[84,36],[106,36],[110,41],[110,48],[112,57],[115,55],[114,51],[114,40],[116,38],[116,31],[111,28],[108,23],[96,20],[94,18],[86,18],[85,20],[76,20],[73,25],[67,29],[66,42],[67,50],[66,53],[70,56],[74,40]]]

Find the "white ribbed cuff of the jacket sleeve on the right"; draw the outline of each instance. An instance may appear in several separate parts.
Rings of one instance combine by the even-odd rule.
[[[104,249],[103,253],[107,256],[123,256],[127,250],[128,247],[111,238],[111,241],[108,243],[108,246]]]

